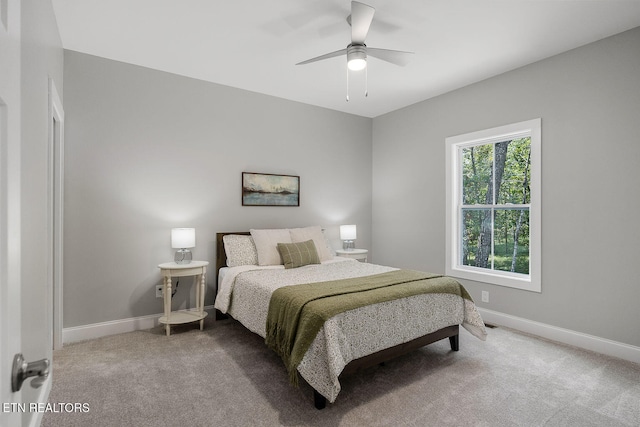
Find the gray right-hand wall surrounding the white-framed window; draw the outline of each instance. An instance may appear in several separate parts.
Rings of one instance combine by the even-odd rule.
[[[481,307],[640,346],[638,52],[640,28],[375,118],[376,262],[444,272],[445,138],[540,117],[542,293],[464,284]]]

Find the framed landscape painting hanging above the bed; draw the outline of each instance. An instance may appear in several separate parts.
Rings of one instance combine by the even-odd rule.
[[[300,177],[242,172],[242,206],[300,206]]]

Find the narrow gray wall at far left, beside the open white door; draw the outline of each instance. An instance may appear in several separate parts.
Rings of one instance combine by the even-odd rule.
[[[21,26],[22,352],[32,361],[51,358],[52,348],[53,296],[47,288],[48,81],[54,80],[62,97],[63,50],[50,1],[21,2]],[[40,391],[23,386],[23,401],[37,401]]]

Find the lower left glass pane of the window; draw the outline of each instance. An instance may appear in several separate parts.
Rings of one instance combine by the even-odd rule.
[[[462,265],[491,268],[491,210],[462,209]]]

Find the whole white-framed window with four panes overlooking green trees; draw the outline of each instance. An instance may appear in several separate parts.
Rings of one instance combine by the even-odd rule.
[[[540,292],[540,122],[446,139],[448,275]]]

